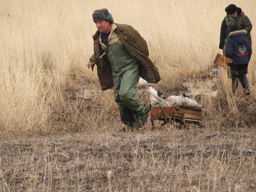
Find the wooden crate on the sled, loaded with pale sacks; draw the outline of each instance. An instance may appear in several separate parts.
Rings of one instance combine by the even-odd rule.
[[[194,123],[200,124],[203,120],[203,111],[197,109],[185,109],[181,108],[179,110],[174,107],[168,108],[153,108],[150,110],[151,123],[153,128],[155,128],[154,120],[163,121],[162,125],[174,121],[176,123],[182,124]]]

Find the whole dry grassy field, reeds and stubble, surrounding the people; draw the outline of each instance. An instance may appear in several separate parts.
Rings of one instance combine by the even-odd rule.
[[[248,97],[232,96],[225,70],[212,72],[225,7],[241,7],[255,27],[256,2],[243,2],[1,0],[0,191],[256,192],[255,54]],[[192,95],[200,126],[117,132],[113,90],[86,66],[100,8],[147,40],[155,89],[191,95],[185,81],[214,79]],[[147,90],[138,94],[148,106]]]

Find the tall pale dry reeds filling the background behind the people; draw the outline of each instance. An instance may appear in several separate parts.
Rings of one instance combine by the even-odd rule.
[[[161,74],[162,84],[157,86],[171,89],[181,86],[184,78],[205,77],[215,67],[212,61],[222,52],[218,43],[224,8],[230,3],[241,7],[252,23],[256,22],[253,0],[246,4],[238,0],[3,0],[0,134],[48,132],[54,123],[77,122],[80,112],[64,94],[76,91],[74,82],[83,82],[85,89],[91,89],[90,83],[98,86],[96,71],[93,75],[86,67],[93,52],[94,10],[108,8],[116,23],[126,23],[139,31]],[[253,31],[252,39],[256,39]],[[253,94],[254,68],[253,55],[248,74]],[[221,84],[220,89],[226,92],[230,84]],[[230,91],[220,94],[229,95]],[[211,102],[211,98],[206,101]],[[107,103],[118,114],[115,104]],[[89,115],[83,112],[83,116]]]

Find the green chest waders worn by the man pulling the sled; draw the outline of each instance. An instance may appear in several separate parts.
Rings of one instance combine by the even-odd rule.
[[[140,63],[123,45],[118,43],[109,45],[106,53],[112,68],[115,102],[118,105],[121,120],[124,124],[133,126],[134,115],[145,112],[145,106],[136,95]]]

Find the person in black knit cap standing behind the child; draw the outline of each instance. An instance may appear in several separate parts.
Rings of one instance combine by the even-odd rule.
[[[230,4],[225,8],[227,15],[222,21],[221,24],[221,37],[219,42],[219,48],[223,49],[229,39],[229,28],[234,23],[237,23],[241,30],[245,30],[247,32],[246,38],[249,43],[252,45],[252,38],[250,31],[252,30],[252,23],[250,19],[244,15],[241,8],[237,7],[234,4]]]

